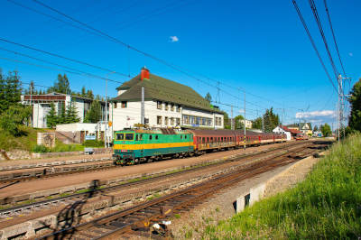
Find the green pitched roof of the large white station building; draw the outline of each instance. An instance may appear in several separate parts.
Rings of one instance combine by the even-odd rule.
[[[149,78],[150,79],[144,78],[142,81],[140,74],[135,76],[116,88],[116,90],[125,89],[126,91],[123,94],[110,100],[117,102],[140,101],[142,99],[142,88],[144,88],[145,100],[159,100],[198,108],[208,112],[221,113],[213,109],[204,97],[201,97],[195,90],[188,86],[153,74],[150,74]]]

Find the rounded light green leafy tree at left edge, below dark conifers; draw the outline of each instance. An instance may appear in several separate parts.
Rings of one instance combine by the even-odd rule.
[[[19,125],[28,121],[32,113],[32,106],[21,106],[14,104],[9,106],[4,113],[0,115],[0,126],[3,131],[10,134],[19,134]]]

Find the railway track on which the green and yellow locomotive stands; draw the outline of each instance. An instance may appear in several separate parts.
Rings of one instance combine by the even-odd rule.
[[[278,147],[278,149],[292,147],[298,144],[302,144],[302,143],[287,144],[285,146]],[[85,162],[84,165],[80,164],[77,166],[57,166],[57,167],[53,166],[50,168],[43,168],[40,170],[37,170],[37,168],[39,167],[34,167],[33,169],[35,170],[33,171],[29,171],[31,170],[30,168],[24,169],[24,171],[22,172],[17,172],[19,171],[19,169],[0,171],[0,184],[27,181],[27,180],[41,180],[41,179],[53,178],[53,177],[64,176],[69,174],[91,172],[91,171],[106,171],[106,170],[112,170],[122,167],[122,166],[114,165],[113,162],[106,162],[106,161],[111,161],[111,160],[103,159],[103,162],[97,162],[92,164],[86,164],[88,162]],[[14,172],[12,173],[12,171]]]

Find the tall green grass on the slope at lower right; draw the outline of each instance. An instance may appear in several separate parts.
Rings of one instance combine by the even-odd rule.
[[[334,143],[307,179],[207,226],[203,239],[361,239],[361,134]]]

